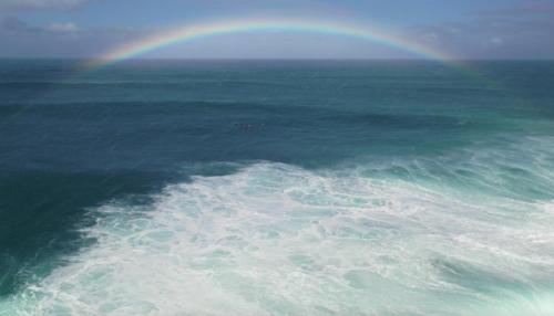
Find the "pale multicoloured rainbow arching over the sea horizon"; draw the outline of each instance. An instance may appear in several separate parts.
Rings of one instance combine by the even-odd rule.
[[[142,54],[181,42],[189,42],[208,36],[240,33],[240,32],[311,32],[330,35],[350,36],[379,43],[386,46],[410,52],[414,56],[427,60],[456,64],[454,56],[439,52],[414,41],[403,39],[376,28],[355,24],[336,23],[329,21],[306,20],[268,20],[246,19],[235,21],[214,22],[205,24],[184,25],[177,29],[153,34],[136,42],[119,46],[88,63],[89,67],[105,66],[121,61],[137,57]]]

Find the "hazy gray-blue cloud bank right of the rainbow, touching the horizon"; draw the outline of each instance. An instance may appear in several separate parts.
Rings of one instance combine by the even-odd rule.
[[[409,35],[462,59],[553,59],[554,1],[522,0],[464,21],[418,25]]]

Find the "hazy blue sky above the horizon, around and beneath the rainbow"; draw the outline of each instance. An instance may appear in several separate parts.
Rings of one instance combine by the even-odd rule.
[[[554,0],[0,0],[0,57],[98,57],[181,25],[296,19],[355,23],[462,60],[554,59]],[[239,32],[141,57],[410,59],[360,39]]]

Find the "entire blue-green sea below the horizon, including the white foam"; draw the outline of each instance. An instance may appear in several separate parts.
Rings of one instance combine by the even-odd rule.
[[[0,315],[554,315],[554,62],[0,61]]]

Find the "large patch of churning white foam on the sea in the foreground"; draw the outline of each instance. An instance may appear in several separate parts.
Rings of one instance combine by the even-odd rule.
[[[264,162],[93,215],[14,314],[554,314],[552,204]]]

